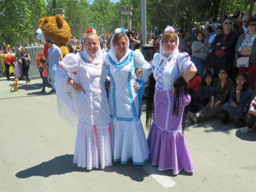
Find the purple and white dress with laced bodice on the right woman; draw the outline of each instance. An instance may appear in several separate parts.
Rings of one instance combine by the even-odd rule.
[[[161,61],[161,65],[157,56],[154,56],[153,61],[153,74],[156,80],[154,121],[147,138],[149,159],[152,165],[158,164],[159,170],[172,169],[173,174],[178,174],[183,168],[187,172],[192,172],[194,166],[182,132],[182,114],[184,106],[190,102],[190,96],[180,97],[178,116],[175,116],[172,114],[174,95],[171,89],[174,80],[179,76],[179,71],[184,72],[192,63],[188,57],[183,57],[180,53],[165,63]]]

